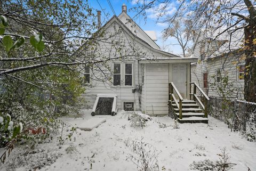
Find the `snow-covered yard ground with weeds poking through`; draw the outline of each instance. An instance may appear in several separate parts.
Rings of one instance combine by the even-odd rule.
[[[138,170],[131,159],[139,157],[134,144],[141,142],[152,145],[148,152],[155,154],[159,170],[191,170],[193,161],[219,160],[218,154],[225,148],[230,162],[236,164],[233,170],[248,170],[247,167],[256,170],[256,143],[230,132],[226,124],[212,117],[209,124],[178,124],[179,128],[169,117],[151,117],[145,128],[134,128],[124,112],[92,117],[90,111],[84,111],[83,118],[62,119],[76,126],[90,118],[106,118],[106,122],[92,131],[77,129],[72,140],[65,141],[61,149],[57,137],[40,145],[41,149],[54,151],[59,157],[40,170]],[[66,130],[65,134],[68,134]],[[26,167],[25,164],[17,170],[28,170]]]

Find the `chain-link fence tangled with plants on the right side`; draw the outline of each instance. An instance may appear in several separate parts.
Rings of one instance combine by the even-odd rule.
[[[256,103],[210,97],[209,114],[228,124],[231,131],[256,139]]]

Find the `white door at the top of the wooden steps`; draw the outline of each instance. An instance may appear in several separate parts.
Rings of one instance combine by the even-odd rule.
[[[187,99],[187,64],[172,64],[172,82],[183,99]]]

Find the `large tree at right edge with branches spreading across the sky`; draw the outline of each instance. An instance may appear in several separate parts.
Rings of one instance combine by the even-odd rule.
[[[170,0],[163,1],[140,1],[134,8],[138,14],[146,15],[147,9],[154,9],[159,19],[165,18]],[[239,52],[246,54],[245,63],[245,88],[244,96],[247,101],[256,102],[256,9],[253,0],[182,0],[175,2],[175,13],[168,16],[169,27],[179,16],[187,17],[194,30],[217,30],[225,28],[212,40],[217,40],[222,34],[229,32],[230,39],[236,31],[244,31],[244,45]],[[136,16],[135,16],[136,17]],[[168,28],[169,28],[168,27]],[[229,42],[228,51],[233,51]],[[228,53],[228,52],[226,52]],[[242,60],[242,57],[241,57]]]

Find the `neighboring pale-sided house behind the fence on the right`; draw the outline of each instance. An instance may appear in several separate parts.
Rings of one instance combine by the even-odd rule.
[[[238,50],[244,35],[227,31],[216,38],[222,31],[199,31],[193,46],[193,58],[198,61],[191,64],[191,82],[209,96],[244,99],[245,56]]]

